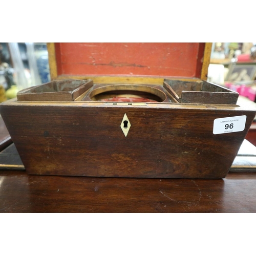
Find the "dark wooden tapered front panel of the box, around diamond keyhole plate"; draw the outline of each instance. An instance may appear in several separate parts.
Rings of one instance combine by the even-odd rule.
[[[5,102],[1,114],[29,174],[223,178],[255,116],[233,105]],[[127,137],[124,114],[131,122]],[[212,132],[246,115],[245,130]],[[15,124],[14,121],[15,120]]]

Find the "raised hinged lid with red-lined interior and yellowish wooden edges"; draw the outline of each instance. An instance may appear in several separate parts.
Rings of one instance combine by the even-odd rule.
[[[148,82],[207,78],[211,43],[48,43],[51,79]]]

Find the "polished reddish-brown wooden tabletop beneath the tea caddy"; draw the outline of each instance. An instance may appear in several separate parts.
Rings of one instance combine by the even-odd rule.
[[[0,170],[0,212],[256,212],[256,175],[136,179]]]

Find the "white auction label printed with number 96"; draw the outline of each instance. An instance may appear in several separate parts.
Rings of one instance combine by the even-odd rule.
[[[244,131],[246,116],[231,116],[214,120],[214,134]]]

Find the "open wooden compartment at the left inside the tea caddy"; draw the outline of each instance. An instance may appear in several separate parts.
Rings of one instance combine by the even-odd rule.
[[[92,80],[53,80],[17,93],[20,101],[74,101],[93,86]]]

